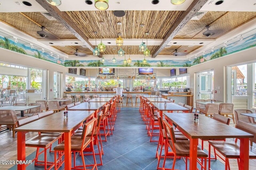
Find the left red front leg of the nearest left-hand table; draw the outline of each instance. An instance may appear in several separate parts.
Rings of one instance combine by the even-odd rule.
[[[17,133],[17,160],[26,160],[26,136],[25,132],[18,132]],[[18,164],[18,170],[26,169],[26,164]]]

